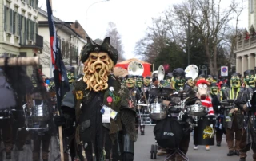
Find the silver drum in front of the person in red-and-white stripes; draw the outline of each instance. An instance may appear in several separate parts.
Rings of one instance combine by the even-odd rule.
[[[193,105],[187,106],[187,112],[189,116],[202,117],[207,115],[208,108],[202,106],[201,104],[193,104]]]

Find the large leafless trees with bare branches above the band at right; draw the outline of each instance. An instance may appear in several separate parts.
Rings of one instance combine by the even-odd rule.
[[[174,41],[186,47],[188,26],[193,29],[190,37],[196,34],[205,49],[210,73],[217,75],[217,51],[230,36],[231,22],[236,21],[235,34],[238,33],[238,20],[245,0],[232,0],[226,8],[221,7],[221,0],[185,0],[164,11],[165,18],[153,18],[153,25],[148,27],[146,36],[138,41],[136,52],[145,54],[150,59],[157,57],[166,41]],[[230,54],[234,53],[235,39],[229,41]],[[232,47],[231,47],[232,46]],[[186,49],[186,48],[184,48]]]

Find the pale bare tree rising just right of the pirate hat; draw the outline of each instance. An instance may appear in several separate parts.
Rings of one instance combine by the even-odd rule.
[[[110,38],[111,45],[113,45],[114,48],[118,50],[118,53],[119,53],[118,61],[125,61],[126,58],[124,57],[122,37],[118,33],[117,26],[114,24],[114,22],[109,22],[108,29],[106,30],[106,37],[111,37]]]

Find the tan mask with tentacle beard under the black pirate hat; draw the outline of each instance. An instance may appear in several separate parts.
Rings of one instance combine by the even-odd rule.
[[[90,53],[88,59],[84,62],[83,69],[85,73],[83,81],[87,84],[86,89],[98,92],[108,88],[108,75],[110,75],[113,68],[114,62],[107,53]]]

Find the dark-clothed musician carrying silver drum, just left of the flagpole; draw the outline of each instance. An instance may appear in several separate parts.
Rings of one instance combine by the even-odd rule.
[[[34,146],[32,160],[40,161],[40,154],[42,151],[42,160],[48,161],[50,139],[53,133],[52,118],[54,108],[46,86],[44,85],[42,76],[35,73],[32,75],[32,77],[34,77],[33,79],[38,82],[37,86],[34,85],[34,88],[30,92],[30,96],[28,96],[28,102],[30,102],[30,104],[26,104],[26,115],[32,116],[31,122],[26,120],[27,124],[30,126],[28,127],[29,131],[31,130],[33,136],[32,139]]]

